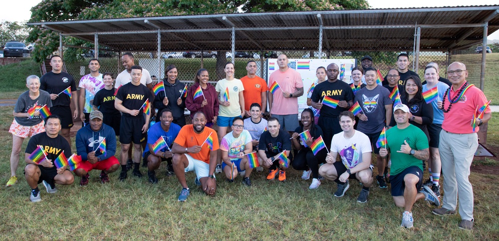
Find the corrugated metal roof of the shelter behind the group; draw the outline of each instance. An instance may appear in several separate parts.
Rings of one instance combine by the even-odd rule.
[[[325,51],[412,50],[421,26],[422,51],[467,48],[499,29],[499,5],[264,12],[30,22],[114,50],[316,50],[322,27]],[[131,44],[133,43],[133,44]]]

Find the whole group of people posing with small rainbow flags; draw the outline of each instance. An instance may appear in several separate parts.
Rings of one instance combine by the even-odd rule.
[[[367,202],[374,180],[381,189],[390,183],[395,205],[404,208],[401,226],[411,228],[412,206],[417,200],[440,206],[442,169],[443,206],[432,213],[456,214],[459,191],[459,228],[471,230],[473,189],[468,176],[478,147],[479,126],[491,118],[489,108],[483,116],[475,112],[476,106],[483,106],[487,99],[466,81],[468,72],[463,63],[449,65],[450,80],[439,76],[436,63],[429,63],[423,85],[408,69],[409,56],[402,53],[397,58],[397,68],[388,71],[383,85],[377,82],[381,76],[372,67],[370,56],[361,59],[361,67],[352,69],[350,84],[338,79],[337,64],[317,68],[317,81],[306,93],[310,108],[301,112],[299,121],[297,98],[305,94],[304,86],[300,74],[288,67],[285,54],[277,57],[279,69],[270,75],[268,85],[256,76],[254,61],[248,62],[248,75],[241,79],[235,78],[235,66],[228,62],[226,78],[215,87],[208,83],[208,71],[200,69],[186,91],[187,85],[177,79],[177,68],[170,65],[162,81],[164,91],[156,94],[149,72],[135,65],[131,53],[121,57],[125,70],[116,77],[114,86],[113,75],[99,73],[99,60],[91,59],[90,74],[79,82],[79,96],[75,81],[61,71],[61,57],[54,55],[50,59],[52,71],[40,79],[28,76],[29,90],[19,96],[14,107],[7,186],[16,182],[20,148],[28,136],[32,138],[25,150],[24,172],[32,189],[30,200],[41,200],[39,183],[48,193],[56,192],[56,183],[72,184],[74,178],[67,166],[56,168],[53,162],[59,155],[72,155],[69,128],[73,118],[79,116],[87,123],[78,130],[75,141],[81,163],[73,172],[81,177],[80,186],[88,185],[93,169],[101,170],[102,183],[109,182],[108,174],[120,166],[119,180],[125,180],[132,168],[134,176],[142,177],[142,157],[153,184],[158,182],[155,171],[161,162],[167,162],[167,175],[175,175],[182,186],[178,201],[186,201],[190,189],[185,173],[189,171],[196,173],[196,185],[207,195],[214,195],[215,173],[224,173],[227,182],[234,182],[239,174],[242,183],[251,186],[253,169],[267,168],[267,180],[277,177],[285,181],[286,170],[292,166],[303,171],[303,180],[312,177],[309,189],[317,189],[323,179],[336,182],[334,196],[338,198],[349,189],[350,179],[358,180],[362,184],[359,203]],[[435,86],[438,97],[427,103],[422,93]],[[393,99],[394,89],[400,93],[400,103]],[[336,105],[324,103],[326,97]],[[264,119],[267,103],[270,118]],[[44,122],[38,108],[28,113],[42,105],[51,112]],[[192,124],[186,124],[185,108],[191,111]],[[360,111],[352,110],[355,108]],[[157,122],[150,125],[155,109]],[[380,139],[380,135],[386,139]],[[121,144],[119,159],[115,157],[116,136]],[[319,148],[320,143],[325,148]],[[46,153],[40,163],[29,158],[37,147]],[[376,177],[372,152],[377,157]],[[423,183],[425,161],[430,179]]]

